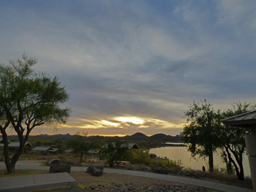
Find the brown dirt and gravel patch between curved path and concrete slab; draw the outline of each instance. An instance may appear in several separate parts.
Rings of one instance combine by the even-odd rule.
[[[218,192],[183,183],[158,180],[147,177],[103,173],[92,176],[87,172],[71,172],[70,175],[84,186],[85,191],[97,192]]]

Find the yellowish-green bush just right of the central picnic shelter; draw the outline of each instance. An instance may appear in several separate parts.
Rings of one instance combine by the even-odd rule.
[[[141,148],[132,150],[132,162],[145,165],[150,165],[154,163],[154,161],[150,157],[149,150],[144,150]]]

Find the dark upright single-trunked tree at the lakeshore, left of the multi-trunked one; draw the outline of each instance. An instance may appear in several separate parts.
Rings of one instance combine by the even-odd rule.
[[[188,150],[192,157],[208,157],[210,172],[213,171],[213,152],[218,148],[218,141],[215,138],[214,128],[218,126],[215,112],[206,99],[201,103],[195,101],[189,105],[185,112],[187,123],[183,128],[181,136],[185,143],[188,143]]]

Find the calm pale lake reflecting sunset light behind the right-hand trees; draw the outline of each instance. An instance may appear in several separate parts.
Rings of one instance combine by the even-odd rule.
[[[183,143],[173,143],[173,144],[183,144]],[[208,158],[199,158],[196,156],[196,159],[191,157],[189,151],[186,147],[161,147],[161,148],[151,148],[150,153],[154,153],[159,157],[167,157],[172,160],[181,160],[181,163],[185,167],[191,167],[192,169],[202,170],[202,166],[208,167]],[[223,163],[219,154],[215,153],[213,155],[213,165],[218,168],[226,168],[226,164]],[[244,175],[250,176],[250,167],[247,154],[244,154],[243,157],[243,166],[244,166]]]

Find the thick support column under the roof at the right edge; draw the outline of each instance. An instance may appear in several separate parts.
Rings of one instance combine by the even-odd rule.
[[[244,135],[247,153],[249,154],[249,165],[253,182],[253,191],[256,192],[256,134]]]

